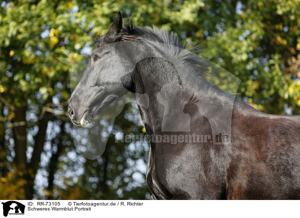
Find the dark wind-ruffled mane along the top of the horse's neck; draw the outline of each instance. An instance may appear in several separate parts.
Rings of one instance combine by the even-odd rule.
[[[97,38],[97,42],[103,38],[104,36],[100,36]],[[163,57],[176,66],[180,65],[184,67],[185,73],[181,75],[185,78],[186,82],[189,84],[195,84],[195,81],[198,81],[198,89],[205,86],[206,88],[212,87],[213,89],[221,90],[218,86],[211,84],[205,78],[205,76],[210,75],[210,69],[208,67],[209,62],[206,61],[206,57],[199,55],[204,50],[204,46],[202,44],[184,44],[173,31],[168,31],[163,27],[158,28],[155,25],[152,27],[135,26],[132,24],[131,18],[122,26],[118,35],[118,40],[141,40],[146,44],[159,42],[155,43],[154,46],[159,49],[159,51],[163,54]],[[225,92],[223,90],[221,91]],[[228,94],[232,96],[234,95],[231,93]]]

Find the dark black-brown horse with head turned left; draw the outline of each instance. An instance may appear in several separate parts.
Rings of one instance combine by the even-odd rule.
[[[151,199],[300,199],[300,116],[262,113],[212,85],[202,59],[183,48],[174,33],[123,26],[118,12],[70,97],[72,122],[90,122],[128,91],[146,93],[147,134],[211,135],[150,142]],[[227,141],[214,143],[215,129]]]

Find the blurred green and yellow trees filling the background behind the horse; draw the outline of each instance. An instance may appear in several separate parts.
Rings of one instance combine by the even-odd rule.
[[[57,57],[67,49],[75,52],[69,61],[84,65],[76,53],[90,54],[118,10],[136,25],[163,26],[186,43],[205,44],[204,56],[242,80],[238,91],[254,107],[297,114],[299,6],[298,0],[0,2],[0,197],[148,197],[133,170],[145,163],[147,148],[115,143],[111,135],[103,155],[86,160],[76,154],[64,116],[71,67]],[[127,106],[122,115],[132,111]],[[140,132],[122,115],[114,128]]]

